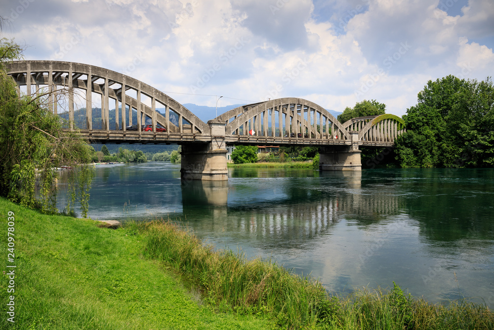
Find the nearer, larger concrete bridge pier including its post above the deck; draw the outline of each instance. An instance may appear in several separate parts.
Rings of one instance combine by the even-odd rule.
[[[224,120],[207,122],[211,142],[182,145],[180,177],[182,180],[226,181],[226,123]]]

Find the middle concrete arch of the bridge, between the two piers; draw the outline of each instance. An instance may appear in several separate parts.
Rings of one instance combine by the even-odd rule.
[[[225,120],[227,135],[288,139],[349,140],[348,131],[328,110],[302,98],[286,97],[232,109]],[[249,131],[252,133],[249,133]]]

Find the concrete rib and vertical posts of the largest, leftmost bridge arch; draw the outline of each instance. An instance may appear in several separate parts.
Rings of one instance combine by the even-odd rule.
[[[208,133],[209,127],[201,121],[190,110],[184,107],[165,93],[122,73],[104,69],[94,65],[81,64],[63,61],[14,61],[6,66],[7,73],[17,83],[18,91],[20,86],[26,86],[31,93],[31,86],[36,85],[37,93],[41,85],[48,87],[48,104],[50,110],[57,113],[57,102],[54,101],[56,91],[60,88],[68,88],[69,93],[69,121],[70,128],[73,129],[74,120],[74,89],[85,90],[86,100],[86,123],[85,129],[92,130],[92,93],[101,94],[102,129],[110,130],[109,99],[116,101],[116,126],[122,126],[125,131],[127,124],[132,124],[132,111],[137,111],[137,125],[139,132],[143,119],[151,119],[153,132],[156,132],[156,125],[160,124],[166,128],[167,134],[171,133]],[[133,90],[137,97],[131,97],[125,92]],[[54,92],[54,93],[51,93]],[[151,99],[151,106],[143,102],[146,95]],[[122,104],[122,113],[119,114],[118,102]],[[156,111],[156,103],[165,107],[165,115]],[[126,107],[129,107],[128,121],[126,117]],[[122,122],[119,122],[119,117]]]

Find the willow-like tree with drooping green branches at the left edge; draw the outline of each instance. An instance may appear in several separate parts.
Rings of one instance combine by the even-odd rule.
[[[45,213],[57,212],[55,171],[61,165],[72,166],[76,170],[70,172],[66,211],[75,214],[73,206],[79,199],[85,216],[92,168],[78,164],[89,161],[89,148],[75,134],[62,130],[60,117],[45,107],[47,93],[17,95],[5,63],[20,59],[21,52],[13,41],[0,39],[0,195]]]

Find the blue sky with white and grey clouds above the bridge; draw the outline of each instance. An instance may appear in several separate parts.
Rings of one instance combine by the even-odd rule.
[[[30,60],[96,65],[180,103],[300,97],[398,116],[429,80],[494,73],[494,0],[5,0]]]

